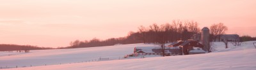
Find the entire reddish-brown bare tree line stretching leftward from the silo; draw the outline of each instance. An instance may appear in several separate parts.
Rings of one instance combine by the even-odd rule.
[[[191,39],[194,35],[200,34],[198,23],[188,20],[173,20],[171,24],[152,24],[148,27],[141,25],[137,32],[129,32],[127,36],[121,38],[109,38],[100,40],[93,38],[90,41],[71,41],[70,46],[60,48],[84,48],[94,46],[111,46],[116,44],[132,43],[155,43],[164,46],[163,43],[177,40]],[[198,37],[198,36],[196,36]]]

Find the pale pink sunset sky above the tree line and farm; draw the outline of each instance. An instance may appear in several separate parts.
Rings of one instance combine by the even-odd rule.
[[[223,22],[227,34],[256,36],[255,8],[255,0],[1,0],[0,44],[68,46],[177,19],[201,28]]]

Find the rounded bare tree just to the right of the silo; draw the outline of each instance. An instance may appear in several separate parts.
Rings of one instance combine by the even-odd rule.
[[[211,25],[210,29],[210,33],[212,34],[214,41],[216,41],[217,36],[219,36],[218,38],[220,41],[221,34],[225,34],[225,32],[228,30],[228,27],[223,23],[219,23]]]

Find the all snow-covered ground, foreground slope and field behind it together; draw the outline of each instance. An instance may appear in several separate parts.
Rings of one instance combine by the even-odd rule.
[[[223,43],[214,43],[215,51],[198,55],[170,57],[146,57],[145,59],[118,60],[133,52],[134,46],[155,46],[145,44],[101,46],[63,50],[35,50],[31,53],[0,57],[1,67],[12,69],[256,69],[256,49],[253,42],[225,48]],[[3,53],[3,52],[0,52]],[[95,61],[102,58],[116,59]],[[90,60],[90,62],[88,62]],[[94,60],[92,62],[92,60]],[[83,61],[83,62],[82,62]],[[85,62],[86,61],[86,62]],[[47,66],[45,66],[47,64]],[[49,66],[52,64],[51,66]],[[32,67],[30,67],[32,65]],[[26,66],[26,67],[25,67]]]

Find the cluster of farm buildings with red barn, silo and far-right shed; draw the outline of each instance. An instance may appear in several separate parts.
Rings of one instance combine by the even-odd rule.
[[[239,41],[237,34],[221,34],[215,41]],[[176,41],[170,45],[164,46],[164,55],[191,55],[209,52],[209,29],[202,29],[202,37],[192,38],[186,41]],[[163,55],[161,46],[136,46],[130,57],[145,55]]]

